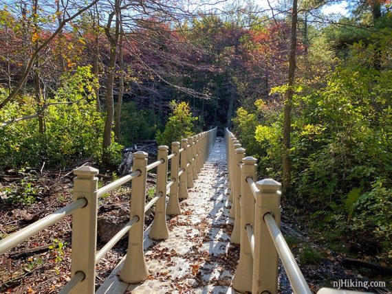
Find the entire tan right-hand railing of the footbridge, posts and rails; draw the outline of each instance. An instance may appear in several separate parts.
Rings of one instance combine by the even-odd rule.
[[[257,181],[257,159],[246,157],[245,149],[228,128],[225,140],[230,218],[235,219],[230,242],[240,245],[233,288],[241,293],[277,293],[279,256],[294,293],[312,293],[279,229],[281,183],[273,179]],[[323,288],[318,293],[343,291]]]

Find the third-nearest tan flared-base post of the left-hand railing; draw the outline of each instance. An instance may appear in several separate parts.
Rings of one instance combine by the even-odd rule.
[[[155,205],[155,215],[149,237],[153,240],[161,240],[168,238],[168,228],[166,223],[166,185],[167,185],[167,156],[168,146],[158,147],[157,160],[164,160],[157,166],[157,188],[156,193],[161,194],[160,199]]]

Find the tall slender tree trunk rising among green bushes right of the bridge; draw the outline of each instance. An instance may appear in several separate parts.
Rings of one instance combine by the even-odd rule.
[[[289,56],[289,76],[288,89],[285,94],[285,109],[283,122],[283,192],[290,190],[292,162],[290,159],[290,132],[291,132],[291,114],[292,98],[294,95],[294,78],[296,67],[296,25],[298,21],[297,0],[293,0],[292,9],[292,32],[290,39],[290,56]]]

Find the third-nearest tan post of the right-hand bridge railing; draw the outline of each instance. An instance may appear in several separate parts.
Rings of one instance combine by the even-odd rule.
[[[237,148],[235,150],[235,164],[234,167],[234,201],[232,202],[235,205],[235,220],[234,220],[234,228],[232,229],[232,233],[230,236],[230,242],[239,244],[241,241],[241,205],[239,204],[239,197],[241,196],[241,160],[245,156],[244,148]],[[231,211],[230,211],[231,212]]]

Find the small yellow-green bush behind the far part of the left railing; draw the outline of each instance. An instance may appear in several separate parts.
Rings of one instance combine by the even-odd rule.
[[[193,135],[197,117],[193,117],[187,102],[171,101],[173,113],[168,117],[164,131],[157,131],[156,139],[159,145],[171,146],[171,142]]]

